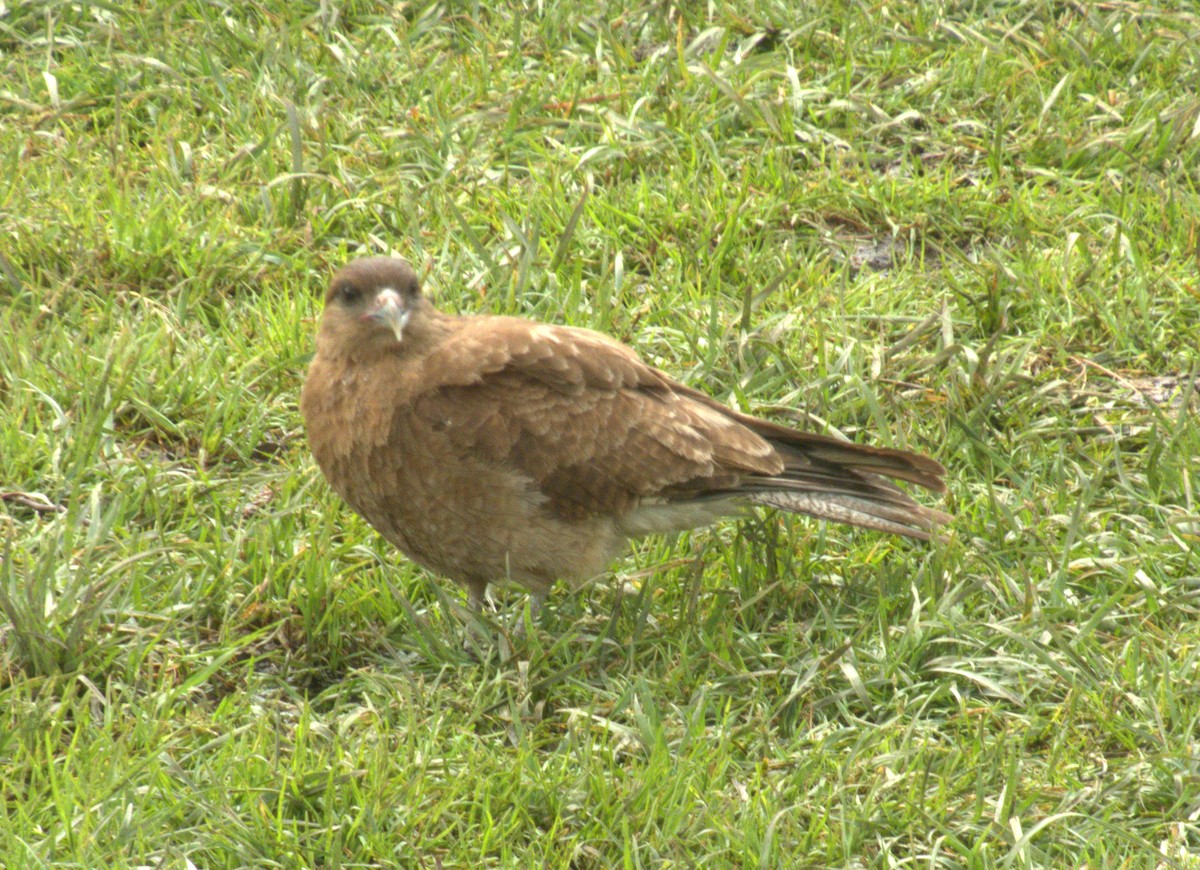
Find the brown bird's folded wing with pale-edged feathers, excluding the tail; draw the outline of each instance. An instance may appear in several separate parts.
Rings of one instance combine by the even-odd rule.
[[[520,470],[564,517],[784,470],[764,438],[589,330],[469,318],[426,358],[424,383],[413,412],[433,432],[462,458]]]

